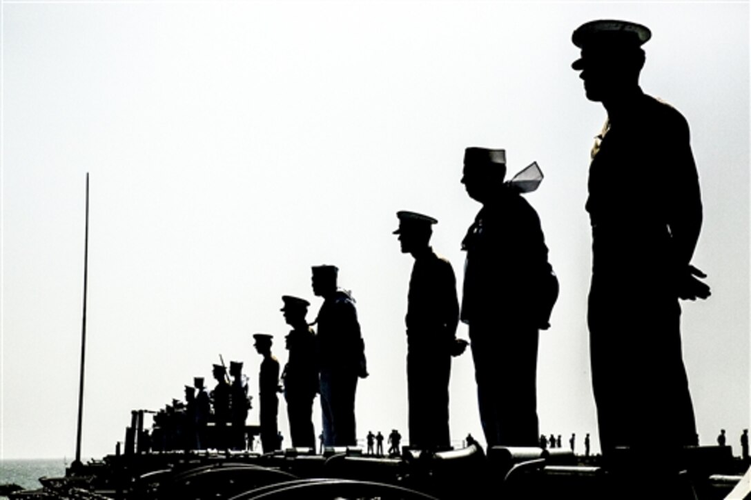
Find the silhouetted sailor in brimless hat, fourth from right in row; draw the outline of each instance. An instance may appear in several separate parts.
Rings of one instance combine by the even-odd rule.
[[[354,393],[357,378],[367,374],[365,345],[357,322],[351,295],[336,287],[339,269],[335,266],[312,268],[313,294],[323,297],[318,311],[318,357],[326,446],[354,446]]]

